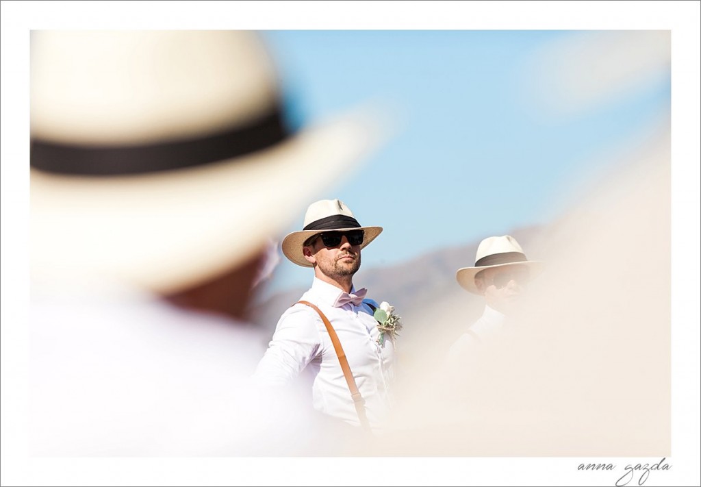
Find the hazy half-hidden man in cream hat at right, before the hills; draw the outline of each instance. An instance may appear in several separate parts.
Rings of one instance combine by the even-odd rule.
[[[451,347],[451,359],[458,359],[468,347],[501,331],[529,279],[540,272],[540,264],[528,260],[510,235],[490,236],[479,243],[475,265],[458,269],[456,279],[465,291],[484,297],[484,312]]]

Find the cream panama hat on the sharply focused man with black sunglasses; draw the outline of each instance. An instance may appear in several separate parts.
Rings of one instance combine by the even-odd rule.
[[[355,229],[365,230],[365,238],[360,248],[365,248],[382,232],[382,227],[361,227],[358,220],[355,220],[351,208],[348,208],[340,199],[315,201],[309,205],[304,215],[304,228],[299,232],[287,234],[283,239],[283,253],[297,265],[313,267],[302,253],[302,246],[306,239],[322,232]]]

